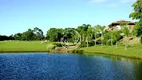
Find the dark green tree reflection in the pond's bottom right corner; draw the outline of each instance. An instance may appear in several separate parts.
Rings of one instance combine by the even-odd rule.
[[[142,61],[139,61],[134,65],[134,73],[136,80],[142,80]]]

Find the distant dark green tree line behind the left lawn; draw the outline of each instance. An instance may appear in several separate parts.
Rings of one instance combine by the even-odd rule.
[[[33,30],[28,29],[23,33],[16,33],[10,36],[0,35],[0,41],[3,40],[32,41],[32,40],[43,40],[43,39],[44,39],[43,31],[38,27],[35,27]]]

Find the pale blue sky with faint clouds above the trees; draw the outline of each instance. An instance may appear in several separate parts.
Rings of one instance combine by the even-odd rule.
[[[0,35],[129,20],[136,0],[0,0]]]

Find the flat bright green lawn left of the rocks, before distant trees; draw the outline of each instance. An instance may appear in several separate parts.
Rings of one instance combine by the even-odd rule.
[[[40,41],[0,41],[0,52],[42,52],[52,46],[51,42]]]

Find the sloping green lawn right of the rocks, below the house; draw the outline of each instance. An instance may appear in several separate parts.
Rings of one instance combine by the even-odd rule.
[[[94,53],[103,53],[142,59],[141,45],[131,45],[127,48],[127,50],[124,49],[124,46],[118,46],[118,48],[116,48],[115,46],[93,46],[88,48],[81,48],[81,50],[84,50],[84,54],[90,55],[93,55]]]

